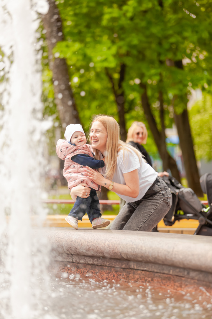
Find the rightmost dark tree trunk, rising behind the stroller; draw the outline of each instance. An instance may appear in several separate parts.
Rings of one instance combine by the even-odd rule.
[[[178,69],[183,69],[183,64],[181,60],[174,61],[174,66]],[[187,98],[185,97],[185,99]],[[173,102],[175,104],[175,111],[177,107],[176,100],[176,98],[173,99]],[[200,176],[196,164],[194,145],[191,136],[187,108],[185,108],[181,114],[176,114],[176,112],[174,112],[174,121],[177,126],[178,136],[180,140],[180,148],[182,151],[182,157],[184,161],[188,186],[194,190],[197,196],[202,197],[203,193],[199,181]]]

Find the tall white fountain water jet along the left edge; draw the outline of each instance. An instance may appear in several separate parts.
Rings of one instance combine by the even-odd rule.
[[[46,244],[32,236],[31,214],[45,218],[39,201],[42,158],[42,136],[49,124],[42,121],[42,82],[35,37],[39,26],[36,11],[48,10],[45,1],[1,0],[1,108],[0,108],[0,235],[4,239],[6,215],[10,216],[4,252],[1,252],[2,288],[10,282],[8,294],[2,292],[5,302],[3,315],[12,318],[32,317],[32,269],[44,272],[45,258],[38,256],[32,264],[32,251]],[[41,167],[41,169],[40,169]],[[44,171],[44,170],[43,170]],[[37,247],[37,248],[36,248]],[[44,259],[44,260],[43,260]],[[42,260],[42,263],[40,262]],[[47,261],[47,258],[46,258]],[[1,267],[2,268],[2,267]],[[36,281],[36,279],[34,279]],[[5,300],[6,300],[5,299]],[[10,310],[8,310],[10,308]]]

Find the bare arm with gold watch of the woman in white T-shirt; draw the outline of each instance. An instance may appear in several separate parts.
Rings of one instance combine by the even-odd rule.
[[[108,189],[111,181],[104,178],[102,174],[95,172],[92,168],[86,166],[85,176],[90,178],[90,180],[94,181],[95,183],[104,186]],[[132,198],[138,197],[139,194],[139,177],[138,177],[138,169],[131,171],[129,173],[125,173],[124,181],[126,185],[114,183],[113,184],[113,191],[120,195],[129,196]]]

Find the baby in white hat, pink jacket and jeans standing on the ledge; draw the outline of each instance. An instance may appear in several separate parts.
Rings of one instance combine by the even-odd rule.
[[[68,189],[80,183],[86,183],[90,187],[90,196],[87,198],[76,198],[74,207],[65,218],[75,229],[78,229],[78,219],[87,212],[92,223],[92,228],[106,227],[110,220],[101,218],[99,209],[99,199],[96,190],[101,190],[100,186],[84,176],[85,166],[93,169],[104,167],[103,160],[94,159],[92,147],[86,144],[85,133],[80,124],[70,124],[65,131],[66,140],[59,139],[56,146],[57,155],[60,159],[65,159],[63,176],[67,179]]]

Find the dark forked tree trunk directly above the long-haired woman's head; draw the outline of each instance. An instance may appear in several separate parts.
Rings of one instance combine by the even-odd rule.
[[[106,75],[108,76],[110,83],[112,85],[113,94],[116,99],[118,116],[119,116],[119,126],[120,126],[120,136],[123,141],[127,139],[127,132],[126,132],[126,125],[125,125],[125,118],[124,118],[124,90],[122,87],[122,83],[124,81],[125,75],[125,64],[121,64],[120,66],[120,77],[118,81],[118,88],[115,87],[114,79],[112,75],[109,73],[108,69],[105,68]]]

